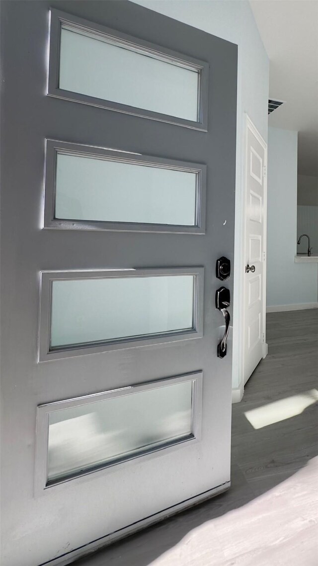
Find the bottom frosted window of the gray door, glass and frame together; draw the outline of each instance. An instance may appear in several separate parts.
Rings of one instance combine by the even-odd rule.
[[[37,407],[35,495],[67,488],[201,439],[203,372]]]

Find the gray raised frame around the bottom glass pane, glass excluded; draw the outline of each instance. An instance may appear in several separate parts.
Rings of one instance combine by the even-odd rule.
[[[88,405],[97,401],[104,401],[114,397],[121,397],[124,395],[132,395],[141,391],[148,391],[150,389],[157,389],[169,385],[184,383],[192,381],[192,402],[191,402],[191,435],[177,440],[167,442],[158,447],[146,449],[144,452],[138,454],[131,454],[122,460],[113,461],[109,464],[98,466],[94,469],[84,470],[72,477],[59,479],[55,482],[48,484],[48,441],[49,441],[49,415],[54,411],[63,409],[70,409],[80,405]],[[59,490],[66,488],[71,482],[71,485],[78,484],[88,479],[97,479],[107,473],[121,470],[126,466],[132,465],[134,461],[142,458],[143,462],[151,458],[162,456],[162,450],[165,454],[169,454],[176,449],[189,447],[201,439],[201,412],[202,412],[202,383],[203,372],[196,371],[191,374],[184,374],[174,376],[173,378],[162,378],[156,381],[149,381],[146,383],[130,385],[111,391],[93,393],[83,397],[75,397],[57,402],[37,406],[36,417],[36,456],[35,456],[35,496],[41,496],[45,493],[51,493],[51,490]],[[92,478],[93,474],[93,478]]]

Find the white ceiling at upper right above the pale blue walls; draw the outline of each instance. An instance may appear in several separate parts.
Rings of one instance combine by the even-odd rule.
[[[297,130],[298,174],[318,177],[318,1],[250,0],[270,61],[268,125]]]

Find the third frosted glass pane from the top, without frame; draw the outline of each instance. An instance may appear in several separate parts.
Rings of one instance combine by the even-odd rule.
[[[51,349],[193,327],[194,276],[53,281]]]

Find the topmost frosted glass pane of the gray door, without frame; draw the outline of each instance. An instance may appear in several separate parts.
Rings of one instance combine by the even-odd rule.
[[[199,72],[163,59],[62,26],[59,88],[197,122]]]

